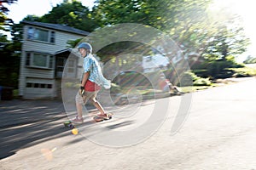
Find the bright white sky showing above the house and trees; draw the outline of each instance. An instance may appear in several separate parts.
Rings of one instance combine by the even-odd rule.
[[[84,6],[92,7],[96,0],[81,0]],[[251,39],[252,45],[248,47],[248,52],[243,54],[238,61],[246,59],[247,55],[256,57],[256,26],[254,26],[253,16],[256,15],[255,0],[214,0],[215,8],[226,7],[231,11],[241,14],[244,20],[244,29],[247,37]],[[9,18],[19,23],[28,14],[35,14],[42,16],[48,14],[49,11],[56,6],[56,4],[62,3],[63,0],[18,0],[17,3],[12,3],[9,8]]]

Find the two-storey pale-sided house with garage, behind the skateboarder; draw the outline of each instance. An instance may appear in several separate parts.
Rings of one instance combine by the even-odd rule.
[[[89,32],[59,24],[35,21],[21,23],[24,26],[20,56],[20,97],[61,97],[61,77],[65,64],[68,70],[67,77],[78,77],[81,69],[77,66],[79,54],[72,48],[67,48],[67,41],[84,38]]]

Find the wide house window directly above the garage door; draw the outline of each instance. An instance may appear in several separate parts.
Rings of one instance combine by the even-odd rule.
[[[54,56],[37,52],[26,52],[26,66],[53,69]]]

